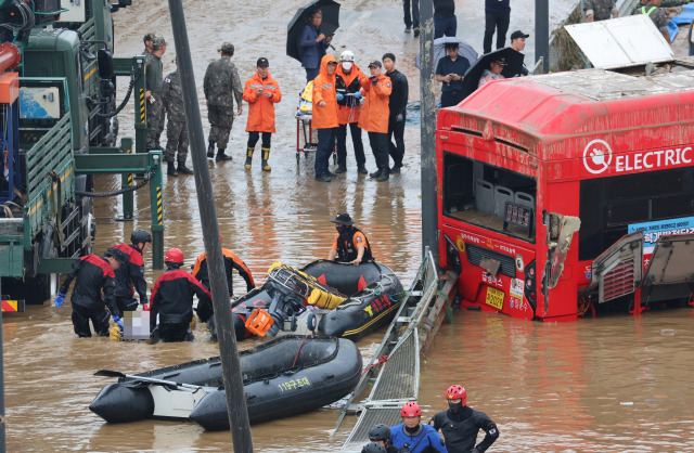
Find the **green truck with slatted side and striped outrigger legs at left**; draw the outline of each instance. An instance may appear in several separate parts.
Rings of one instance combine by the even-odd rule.
[[[42,303],[55,293],[59,274],[92,253],[99,173],[123,174],[126,220],[132,218],[132,174],[146,176],[156,199],[154,267],[162,267],[160,152],[144,152],[144,60],[112,56],[112,12],[130,3],[0,0],[0,276],[9,299]],[[120,105],[118,76],[130,78]],[[136,140],[116,144],[116,115],[131,94]]]

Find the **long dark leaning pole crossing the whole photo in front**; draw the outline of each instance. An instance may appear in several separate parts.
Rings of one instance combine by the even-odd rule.
[[[227,274],[224,272],[221,241],[217,225],[217,210],[215,209],[213,185],[209,178],[209,168],[207,167],[207,157],[205,156],[205,135],[203,134],[203,121],[200,115],[200,105],[197,104],[195,75],[193,73],[193,61],[191,59],[182,0],[169,0],[169,11],[174,28],[178,69],[181,73],[185,122],[188,124],[188,135],[195,172],[197,207],[203,226],[207,266],[209,267],[209,283],[215,307],[217,336],[219,338],[219,355],[227,392],[229,426],[231,427],[234,452],[249,453],[253,452],[253,438],[250,436],[246,396],[241,376],[236,333],[231,319],[229,288],[227,287]]]

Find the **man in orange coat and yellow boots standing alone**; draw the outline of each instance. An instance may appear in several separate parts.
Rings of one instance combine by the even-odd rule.
[[[256,63],[256,74],[253,75],[243,89],[243,100],[248,103],[248,145],[246,151],[246,163],[244,168],[250,170],[253,165],[253,153],[262,134],[260,144],[262,171],[270,171],[272,167],[268,164],[270,158],[270,140],[274,130],[274,104],[282,101],[280,85],[268,72],[268,59],[258,59]]]

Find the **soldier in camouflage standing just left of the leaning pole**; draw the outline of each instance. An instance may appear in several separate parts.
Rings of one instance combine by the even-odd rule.
[[[178,61],[176,62],[176,69],[177,70],[166,76],[164,79],[164,88],[162,89],[162,102],[164,103],[164,109],[168,117],[164,160],[166,160],[168,165],[166,173],[170,177],[176,177],[178,173],[193,173],[193,170],[185,167],[189,142],[188,128],[185,126],[185,111],[183,109],[183,91],[181,90],[181,80],[178,75]],[[174,166],[174,157],[176,157],[177,150],[178,169]]]

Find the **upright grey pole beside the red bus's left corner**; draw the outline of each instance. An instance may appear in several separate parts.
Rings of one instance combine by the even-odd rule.
[[[420,114],[422,141],[422,253],[438,262],[436,199],[436,89],[434,86],[434,2],[420,1]]]

